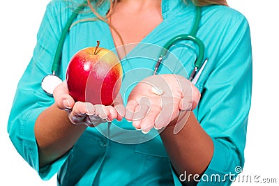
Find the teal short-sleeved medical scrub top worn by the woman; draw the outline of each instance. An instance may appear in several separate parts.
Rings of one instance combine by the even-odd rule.
[[[75,3],[62,0],[53,0],[47,6],[33,57],[20,79],[10,112],[8,133],[15,148],[43,180],[58,173],[58,185],[181,185],[179,178],[183,176],[172,169],[158,132],[142,134],[125,119],[88,127],[68,153],[39,168],[33,127],[39,114],[54,103],[40,83],[51,73],[61,31],[74,6]],[[105,15],[109,8],[106,1],[98,6],[98,13]],[[195,6],[191,3],[186,6],[182,0],[163,0],[162,16],[163,22],[121,61],[125,74],[121,87],[124,102],[135,82],[152,75],[161,47],[173,36],[190,33]],[[91,17],[94,15],[85,8],[77,20]],[[252,88],[250,29],[246,17],[238,11],[227,6],[204,6],[197,36],[204,42],[209,62],[196,84],[202,98],[194,113],[214,144],[212,160],[198,185],[208,185],[216,175],[220,180],[215,185],[230,185],[237,174],[235,168],[244,164]],[[115,48],[105,22],[84,21],[70,29],[63,45],[59,71],[62,79],[71,56],[79,49],[95,46],[96,40],[100,40],[100,47]],[[179,42],[170,49],[161,74],[188,77],[197,54],[185,44]],[[231,176],[227,176],[229,173]]]

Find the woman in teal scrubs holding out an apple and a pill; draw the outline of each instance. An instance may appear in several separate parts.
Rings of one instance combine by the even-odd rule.
[[[251,100],[246,18],[226,1],[93,1],[68,33],[59,76],[65,79],[75,52],[100,40],[100,47],[122,59],[124,72],[123,104],[105,107],[74,102],[65,82],[53,97],[40,87],[52,69],[61,31],[79,3],[49,3],[18,84],[8,132],[24,160],[43,180],[58,173],[58,185],[230,185],[244,164]],[[152,76],[152,59],[161,47],[173,36],[190,33],[195,5],[202,6],[197,37],[209,57],[197,83],[187,80],[195,52],[182,42],[172,47],[160,75]],[[174,101],[160,104],[160,96],[143,81],[156,82]],[[137,120],[137,104],[148,106],[143,98],[151,101],[150,110]],[[92,114],[98,117],[85,121]]]

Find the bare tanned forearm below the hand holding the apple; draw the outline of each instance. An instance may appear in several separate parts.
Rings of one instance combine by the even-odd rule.
[[[35,123],[39,163],[43,167],[73,147],[86,129],[86,125],[73,125],[66,111],[52,105],[43,111]]]

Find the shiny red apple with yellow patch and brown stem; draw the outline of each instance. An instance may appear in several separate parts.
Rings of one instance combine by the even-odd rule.
[[[119,93],[123,71],[116,54],[98,47],[99,43],[80,49],[70,59],[66,83],[75,101],[111,105]]]

